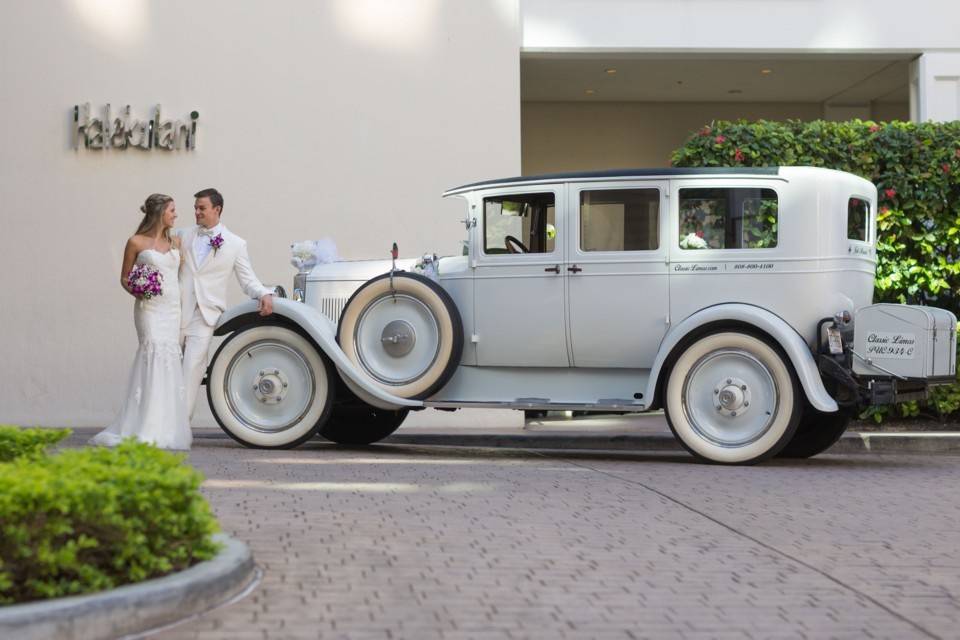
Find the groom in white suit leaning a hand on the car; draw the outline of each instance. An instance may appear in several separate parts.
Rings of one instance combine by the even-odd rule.
[[[180,234],[185,256],[180,265],[180,334],[189,419],[197,405],[214,327],[226,309],[230,274],[236,274],[244,293],[260,301],[260,315],[273,313],[273,291],[253,272],[246,240],[220,222],[223,196],[216,189],[204,189],[193,197],[197,226]]]

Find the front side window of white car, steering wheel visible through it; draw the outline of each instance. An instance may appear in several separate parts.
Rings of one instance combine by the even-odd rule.
[[[483,252],[552,253],[556,247],[553,193],[524,193],[483,199]]]

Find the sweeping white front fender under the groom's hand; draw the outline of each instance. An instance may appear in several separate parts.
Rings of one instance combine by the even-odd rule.
[[[257,301],[248,300],[227,309],[220,317],[220,322],[214,329],[214,335],[222,336],[263,321],[264,318],[259,315],[257,308]],[[381,409],[423,406],[419,400],[408,400],[387,393],[370,382],[363,373],[357,371],[337,344],[336,325],[313,307],[308,307],[302,302],[274,297],[273,315],[305,331],[317,347],[330,358],[343,381],[361,400]]]

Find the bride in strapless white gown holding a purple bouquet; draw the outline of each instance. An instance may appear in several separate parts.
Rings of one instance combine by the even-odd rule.
[[[123,408],[91,444],[115,446],[136,438],[164,449],[189,449],[186,389],[180,353],[179,239],[170,233],[177,219],[173,198],[155,193],[143,206],[143,221],[127,240],[120,283],[136,298],[133,323],[140,346],[133,360]],[[138,295],[128,275],[135,265],[148,265],[161,277],[162,291]]]

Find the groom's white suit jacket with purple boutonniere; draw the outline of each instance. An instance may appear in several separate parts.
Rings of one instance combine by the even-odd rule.
[[[215,325],[227,307],[227,280],[230,274],[236,274],[237,282],[243,292],[254,300],[259,300],[272,289],[263,286],[250,265],[247,254],[247,241],[220,225],[223,246],[216,252],[207,254],[203,262],[197,262],[193,251],[193,241],[197,237],[197,227],[184,229],[179,233],[180,253],[180,314],[181,328],[187,326],[192,317],[194,305],[200,307],[200,313],[208,325]]]

